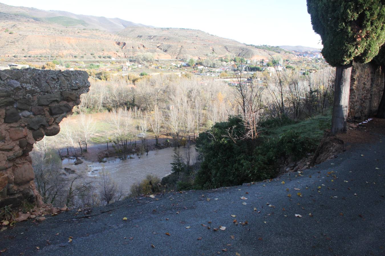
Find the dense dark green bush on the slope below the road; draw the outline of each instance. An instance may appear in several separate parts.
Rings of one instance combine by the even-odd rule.
[[[290,119],[263,122],[270,127],[292,123]],[[196,148],[203,161],[195,179],[197,188],[240,185],[273,178],[281,157],[299,160],[318,145],[317,139],[303,136],[295,128],[254,141],[243,139],[243,129],[241,119],[229,117],[227,122],[216,123],[209,131],[199,134]]]

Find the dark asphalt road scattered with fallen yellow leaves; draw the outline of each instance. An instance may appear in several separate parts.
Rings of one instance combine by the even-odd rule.
[[[0,250],[7,248],[4,255],[384,255],[381,136],[383,142],[353,145],[336,159],[271,182],[129,199],[89,213],[72,210],[42,223],[18,223],[0,233]],[[219,226],[226,229],[215,231]]]

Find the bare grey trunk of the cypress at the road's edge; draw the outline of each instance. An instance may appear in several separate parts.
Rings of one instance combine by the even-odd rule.
[[[336,67],[333,117],[331,119],[332,134],[346,132],[346,122],[348,120],[351,74],[352,74],[352,65]]]

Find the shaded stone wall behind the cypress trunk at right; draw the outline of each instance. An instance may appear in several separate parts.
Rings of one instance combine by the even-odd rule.
[[[372,63],[353,63],[350,81],[349,121],[366,120],[377,113],[384,89],[383,70]]]

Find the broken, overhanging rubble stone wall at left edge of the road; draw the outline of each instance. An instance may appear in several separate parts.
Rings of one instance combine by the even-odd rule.
[[[28,153],[89,91],[85,71],[10,69],[0,71],[0,207],[23,200],[41,203]]]

